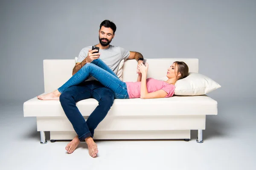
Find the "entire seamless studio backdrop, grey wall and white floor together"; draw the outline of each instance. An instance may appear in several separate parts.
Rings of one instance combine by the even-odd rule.
[[[255,18],[256,0],[0,0],[0,169],[256,167]],[[222,85],[208,94],[218,115],[207,115],[204,143],[195,142],[196,130],[190,142],[96,141],[96,159],[85,142],[71,155],[69,141],[51,143],[49,133],[48,144],[39,143],[36,118],[23,117],[23,102],[44,92],[43,59],[74,59],[99,42],[105,19],[117,26],[113,45],[145,58],[198,58],[199,72]]]

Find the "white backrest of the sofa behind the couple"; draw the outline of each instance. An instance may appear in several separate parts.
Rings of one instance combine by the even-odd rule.
[[[165,58],[147,59],[148,76],[161,79],[166,76],[167,68],[175,61],[183,61],[189,66],[189,72],[198,73],[198,59],[192,58]],[[44,59],[44,91],[51,92],[63,85],[70,77],[75,66],[75,59]],[[137,81],[137,61],[127,59],[123,65],[123,81]]]

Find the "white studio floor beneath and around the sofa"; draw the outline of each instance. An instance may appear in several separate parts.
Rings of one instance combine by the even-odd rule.
[[[191,141],[96,141],[97,158],[85,143],[72,154],[68,141],[40,144],[36,120],[23,117],[23,102],[0,103],[0,170],[244,170],[256,169],[256,99],[218,99],[218,115],[207,116],[204,143]]]

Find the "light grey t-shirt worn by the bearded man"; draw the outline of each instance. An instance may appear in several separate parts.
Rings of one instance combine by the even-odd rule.
[[[85,47],[80,51],[77,62],[82,62],[87,57],[89,49],[92,49],[92,46]],[[105,64],[108,65],[115,74],[117,73],[121,60],[125,60],[130,56],[130,51],[114,45],[109,45],[109,48],[107,49],[99,49],[99,53],[99,58],[102,59],[102,61],[105,62]],[[97,79],[90,76],[85,81],[90,80]]]

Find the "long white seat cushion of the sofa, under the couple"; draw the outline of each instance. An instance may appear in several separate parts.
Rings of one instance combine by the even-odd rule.
[[[96,99],[76,103],[83,116],[97,107]],[[66,116],[57,100],[36,97],[23,104],[24,116]],[[217,102],[207,95],[172,96],[160,99],[115,99],[107,116],[217,115]]]

